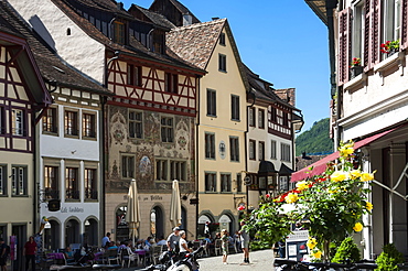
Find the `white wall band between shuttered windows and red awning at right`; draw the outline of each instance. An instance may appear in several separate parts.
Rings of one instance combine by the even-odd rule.
[[[366,84],[344,93],[342,140],[369,134],[407,119],[408,75],[406,67],[398,66],[397,56],[391,56],[394,66],[388,71],[379,73],[378,67],[389,63],[383,61],[374,67],[377,72],[367,77]]]

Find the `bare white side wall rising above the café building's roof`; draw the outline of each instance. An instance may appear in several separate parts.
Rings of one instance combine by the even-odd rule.
[[[104,83],[105,45],[89,37],[51,0],[10,0],[57,54],[78,71]],[[71,29],[71,35],[66,34]]]

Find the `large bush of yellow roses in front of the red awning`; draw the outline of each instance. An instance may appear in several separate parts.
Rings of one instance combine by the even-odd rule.
[[[314,258],[323,256],[329,260],[330,242],[341,242],[352,232],[362,231],[362,217],[373,209],[367,200],[371,191],[367,182],[374,180],[375,172],[362,172],[356,166],[353,147],[353,142],[341,143],[337,164],[329,165],[323,175],[297,185],[298,189],[303,187],[297,200],[298,214],[308,219],[309,232],[315,238]],[[323,254],[314,247],[322,249]]]

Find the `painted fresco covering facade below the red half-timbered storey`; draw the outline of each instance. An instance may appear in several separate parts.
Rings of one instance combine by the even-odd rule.
[[[108,156],[106,189],[110,193],[127,193],[129,181],[135,177],[140,193],[158,192],[170,193],[173,174],[179,171],[185,174],[185,180],[180,180],[180,188],[187,193],[194,191],[194,173],[192,160],[194,159],[194,118],[185,116],[165,115],[153,111],[142,111],[141,139],[129,137],[128,109],[124,107],[109,107],[108,123]],[[173,139],[162,142],[161,119],[170,118],[174,121]],[[135,172],[130,175],[124,173],[124,155],[131,159]],[[158,177],[158,160],[168,163],[168,178]],[[173,164],[182,163],[183,166],[173,169]],[[184,176],[184,174],[181,174]],[[175,175],[174,175],[175,176]],[[181,177],[181,176],[179,176]]]

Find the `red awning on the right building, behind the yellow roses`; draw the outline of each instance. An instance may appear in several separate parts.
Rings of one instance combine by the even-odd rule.
[[[384,137],[385,134],[396,130],[397,128],[393,128],[393,129],[389,129],[387,131],[384,131],[384,132],[380,132],[380,133],[377,133],[377,134],[374,134],[372,137],[368,137],[366,139],[363,139],[361,141],[357,141],[354,143],[354,150],[357,150],[364,145],[367,145],[369,144],[371,142]],[[322,174],[325,169],[326,169],[326,164],[331,161],[334,161],[339,158],[340,153],[339,151],[337,152],[334,152],[328,156],[325,156],[324,159],[321,159],[319,160],[318,162],[314,162],[313,164],[311,165],[308,165],[307,167],[303,167],[302,170],[300,171],[297,171],[297,172],[293,172],[292,173],[292,177],[291,177],[291,181],[290,182],[298,182],[300,180],[304,180],[307,177],[310,177],[310,176],[313,176],[313,175],[319,175],[319,174]],[[312,170],[309,170],[310,167],[312,167]]]

